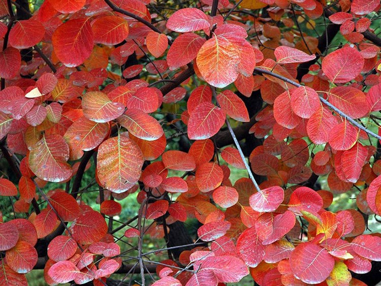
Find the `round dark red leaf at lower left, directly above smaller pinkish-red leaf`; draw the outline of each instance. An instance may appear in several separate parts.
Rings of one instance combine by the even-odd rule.
[[[106,235],[107,224],[102,214],[89,210],[74,220],[71,230],[78,243],[91,244],[100,241]]]

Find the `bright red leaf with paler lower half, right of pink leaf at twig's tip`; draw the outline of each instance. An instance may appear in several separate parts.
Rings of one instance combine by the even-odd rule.
[[[319,212],[322,207],[322,197],[309,187],[298,187],[291,194],[289,210],[296,214],[302,214],[302,211]]]

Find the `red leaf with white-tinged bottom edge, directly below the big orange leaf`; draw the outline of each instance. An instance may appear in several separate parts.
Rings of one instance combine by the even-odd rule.
[[[198,105],[189,117],[189,139],[202,140],[212,137],[224,125],[225,117],[222,109],[209,102]]]

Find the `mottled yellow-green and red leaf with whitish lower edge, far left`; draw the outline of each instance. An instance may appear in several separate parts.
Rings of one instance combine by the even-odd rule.
[[[39,178],[49,182],[62,182],[72,176],[67,163],[69,146],[59,135],[44,135],[29,153],[29,167]]]

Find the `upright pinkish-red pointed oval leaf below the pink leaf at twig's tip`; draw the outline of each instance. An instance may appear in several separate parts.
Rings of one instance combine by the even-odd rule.
[[[255,227],[245,230],[237,240],[237,250],[240,258],[249,267],[256,267],[265,255],[265,246],[257,235]]]

